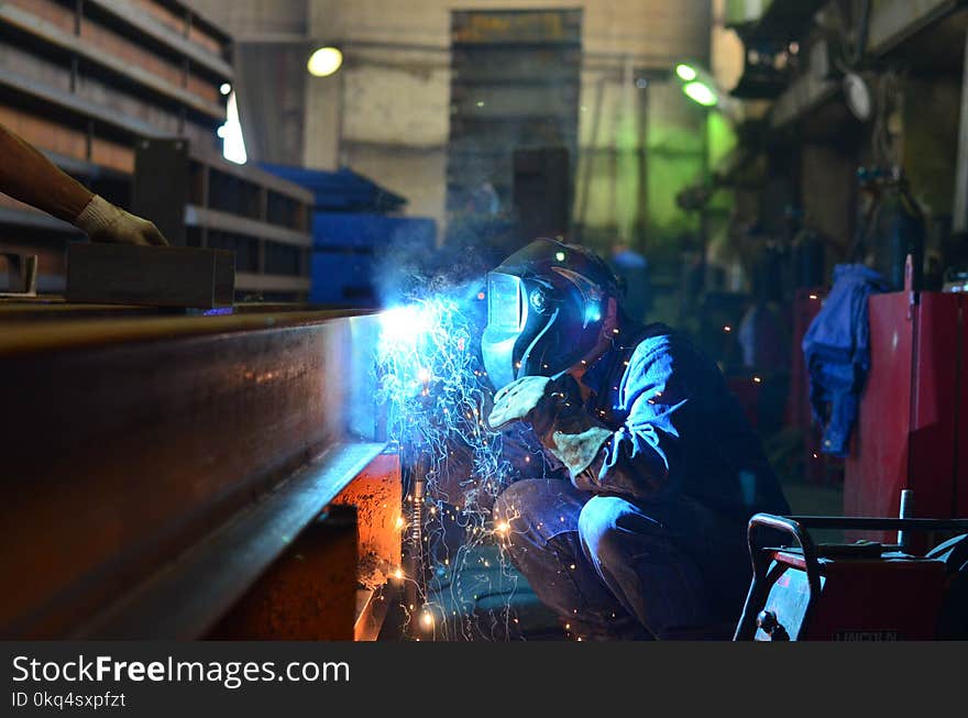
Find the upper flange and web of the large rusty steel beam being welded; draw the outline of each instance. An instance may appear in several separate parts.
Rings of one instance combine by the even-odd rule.
[[[0,432],[0,636],[147,633],[145,621],[187,617],[189,597],[173,589],[162,607],[132,589],[161,581],[179,555],[205,565],[205,551],[191,550],[224,541],[231,531],[219,527],[256,521],[255,501],[270,495],[283,507],[260,519],[265,531],[310,521],[332,498],[322,474],[352,474],[382,446],[369,384],[376,320],[278,312],[0,325],[0,396],[11,408]],[[338,457],[343,468],[326,468]],[[284,521],[296,495],[298,518]],[[233,563],[234,583],[185,575],[199,582],[193,592],[224,597],[267,556]],[[111,612],[122,605],[144,611]],[[175,623],[166,634],[198,628]]]

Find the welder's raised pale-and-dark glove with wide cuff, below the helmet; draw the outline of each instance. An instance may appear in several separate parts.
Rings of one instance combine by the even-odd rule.
[[[572,476],[591,465],[612,435],[610,429],[585,411],[579,384],[569,374],[557,379],[524,376],[498,391],[487,423],[501,429],[514,421],[531,424],[541,445]]]

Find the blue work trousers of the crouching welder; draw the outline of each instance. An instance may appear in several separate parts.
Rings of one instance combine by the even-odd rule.
[[[591,640],[729,639],[750,582],[746,521],[689,497],[664,502],[512,484],[494,506],[538,598]]]

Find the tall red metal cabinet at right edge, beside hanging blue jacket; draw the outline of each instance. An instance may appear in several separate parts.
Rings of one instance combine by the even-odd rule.
[[[968,516],[966,302],[909,291],[869,299],[871,367],[845,462],[846,516],[898,516],[905,488],[913,516]]]

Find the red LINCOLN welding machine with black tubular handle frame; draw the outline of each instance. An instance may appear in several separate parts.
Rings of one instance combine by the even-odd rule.
[[[815,543],[809,529],[897,530],[899,543]],[[912,531],[968,532],[968,520],[757,513],[748,530],[752,583],[735,640],[968,638],[968,533],[913,555]]]

